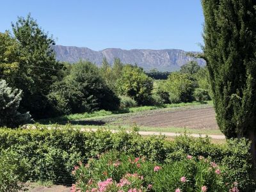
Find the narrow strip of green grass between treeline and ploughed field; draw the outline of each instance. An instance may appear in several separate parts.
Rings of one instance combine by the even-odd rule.
[[[207,101],[206,104],[212,105],[212,101]],[[77,113],[77,114],[71,114],[71,115],[63,115],[58,116],[56,118],[47,118],[38,120],[37,122],[40,124],[55,124],[55,123],[61,123],[61,122],[68,122],[72,120],[81,120],[85,118],[93,118],[93,117],[103,117],[103,116],[111,116],[116,114],[124,114],[124,113],[137,113],[141,111],[150,111],[154,109],[161,109],[161,108],[178,108],[178,107],[184,107],[184,106],[198,106],[201,105],[200,102],[187,102],[187,103],[179,103],[179,104],[163,104],[161,106],[139,106],[135,108],[126,108],[126,109],[120,109],[119,111],[94,111],[93,113]]]

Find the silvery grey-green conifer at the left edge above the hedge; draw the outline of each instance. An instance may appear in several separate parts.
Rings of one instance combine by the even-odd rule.
[[[8,87],[6,81],[0,79],[0,126],[17,127],[31,122],[29,113],[18,111],[22,91]]]

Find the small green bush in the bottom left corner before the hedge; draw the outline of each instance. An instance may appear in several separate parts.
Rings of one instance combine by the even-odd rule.
[[[0,154],[0,191],[13,192],[24,188],[20,181],[24,180],[28,172],[26,159],[19,159],[17,153],[2,150]]]

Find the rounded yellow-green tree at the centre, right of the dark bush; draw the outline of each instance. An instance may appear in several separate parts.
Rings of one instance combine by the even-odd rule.
[[[141,68],[125,65],[118,79],[118,93],[132,97],[138,104],[147,104],[153,90],[153,81]]]

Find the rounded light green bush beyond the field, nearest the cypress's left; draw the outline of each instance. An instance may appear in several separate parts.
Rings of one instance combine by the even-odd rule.
[[[170,94],[172,103],[193,101],[195,84],[188,74],[173,72],[168,77],[165,86],[165,91]]]

